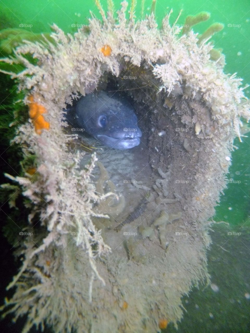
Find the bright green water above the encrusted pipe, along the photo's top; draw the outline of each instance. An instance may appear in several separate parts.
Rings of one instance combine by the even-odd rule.
[[[101,1],[101,3],[106,9],[106,1]],[[114,3],[115,8],[120,7],[120,1],[115,0]],[[131,0],[128,3],[131,3]],[[144,14],[150,13],[151,3],[152,0],[145,0]],[[178,21],[180,24],[184,24],[187,15],[195,15],[201,11],[210,12],[210,20],[195,27],[197,32],[204,31],[211,23],[223,23],[224,30],[214,36],[213,40],[215,47],[223,48],[223,52],[226,54],[225,71],[228,73],[237,72],[245,83],[250,82],[249,0],[160,0],[156,4],[156,18],[159,24],[171,8],[173,8],[170,20],[172,23],[182,10],[182,15]],[[19,27],[19,24],[32,24],[30,29],[34,33],[50,32],[50,25],[53,23],[56,23],[65,32],[75,31],[72,27],[73,24],[88,24],[90,10],[100,18],[94,0],[3,0],[0,2],[0,9],[6,16],[12,18],[10,23],[14,23],[14,27]],[[141,18],[141,1],[138,1],[136,6],[136,17]],[[228,27],[228,24],[239,27]],[[241,52],[241,55],[237,55],[238,52]]]

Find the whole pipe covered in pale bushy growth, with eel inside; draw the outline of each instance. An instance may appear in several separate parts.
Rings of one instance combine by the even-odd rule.
[[[122,2],[117,17],[97,5],[102,22],[92,17],[73,36],[54,25],[53,42],[25,41],[3,60],[23,64],[4,72],[19,78],[29,108],[15,141],[36,157],[35,177],[7,176],[34,203],[29,222],[37,213],[47,233],[22,239],[23,265],[8,287],[16,285],[15,319],[31,309],[25,332],[45,322],[57,333],[177,326],[182,296],[209,282],[208,219],[240,117],[249,120],[241,79],[223,72],[225,57],[208,41],[221,25],[192,31],[209,15],[188,17],[182,30],[170,25],[171,12],[160,28],[153,13],[135,21],[134,2],[129,13]],[[77,99],[77,124],[65,133],[62,109]],[[113,106],[123,122],[110,116]]]

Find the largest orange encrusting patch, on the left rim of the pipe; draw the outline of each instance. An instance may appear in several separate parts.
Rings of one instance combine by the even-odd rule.
[[[40,135],[43,129],[49,129],[49,123],[43,117],[43,113],[46,113],[47,110],[42,105],[34,102],[33,96],[29,96],[29,101],[29,115],[35,126],[36,133]]]

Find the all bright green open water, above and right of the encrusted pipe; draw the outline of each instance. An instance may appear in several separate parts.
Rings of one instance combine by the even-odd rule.
[[[131,3],[131,1],[128,1]],[[104,9],[107,8],[106,1],[102,1]],[[120,7],[120,1],[115,1],[115,8]],[[179,24],[184,24],[187,15],[196,15],[201,11],[211,13],[207,22],[200,23],[194,27],[196,32],[203,32],[212,23],[220,22],[225,25],[224,29],[213,36],[215,48],[222,48],[226,55],[226,73],[235,73],[243,78],[243,85],[250,83],[250,1],[157,1],[156,18],[160,25],[166,13],[173,9],[171,23],[173,23],[179,12]],[[4,0],[0,2],[0,9],[3,13],[0,28],[19,28],[20,25],[29,25],[28,31],[33,33],[50,32],[50,25],[56,23],[65,32],[75,32],[77,25],[87,25],[90,18],[90,11],[100,18],[95,2],[84,0]],[[151,0],[145,0],[144,15],[149,14]],[[141,2],[136,6],[136,17],[142,17]],[[232,26],[230,26],[232,25]],[[250,97],[250,89],[246,89],[246,95]],[[230,224],[238,225],[247,221],[250,213],[250,140],[244,138],[243,143],[235,140],[239,148],[233,153],[233,164],[230,168],[229,179],[233,181],[228,184],[224,191],[220,205],[216,208],[216,221],[227,221]]]

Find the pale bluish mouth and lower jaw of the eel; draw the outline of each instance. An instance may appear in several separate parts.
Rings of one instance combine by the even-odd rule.
[[[140,144],[139,136],[112,138],[107,135],[99,134],[96,136],[96,139],[114,149],[130,149]]]

